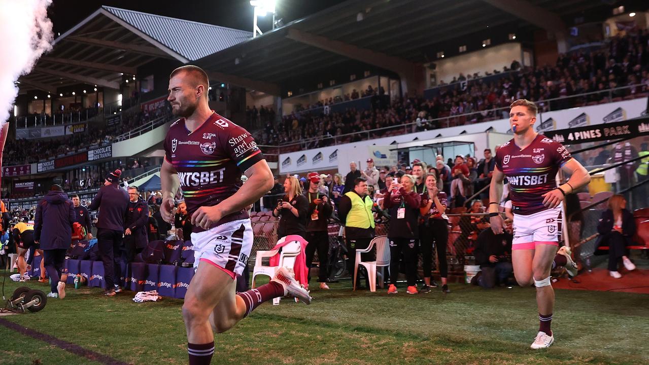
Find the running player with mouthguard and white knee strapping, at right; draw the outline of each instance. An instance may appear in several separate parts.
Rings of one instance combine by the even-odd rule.
[[[489,217],[494,233],[502,233],[504,221],[498,214],[502,182],[507,178],[514,213],[514,239],[511,261],[521,287],[536,287],[539,307],[539,333],[533,349],[550,347],[554,335],[550,329],[554,308],[554,290],[550,270],[565,266],[570,276],[577,266],[570,250],[561,247],[561,207],[565,194],[573,193],[591,181],[586,169],[560,143],[534,132],[537,107],[519,99],[511,104],[509,124],[511,141],[496,150],[496,168],[489,190]],[[558,186],[555,176],[561,168],[570,181]]]

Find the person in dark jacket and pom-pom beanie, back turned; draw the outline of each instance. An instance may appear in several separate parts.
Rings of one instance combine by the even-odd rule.
[[[99,209],[97,220],[97,245],[104,263],[104,279],[106,290],[104,295],[114,296],[121,288],[115,280],[115,273],[119,272],[117,258],[124,236],[124,216],[129,207],[129,194],[119,187],[121,170],[106,175],[104,185],[99,188],[99,193],[92,200],[88,209]],[[117,291],[116,291],[117,290]]]

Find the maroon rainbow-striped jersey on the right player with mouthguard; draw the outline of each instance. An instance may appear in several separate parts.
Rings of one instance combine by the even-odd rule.
[[[543,211],[543,194],[555,189],[559,168],[572,158],[561,143],[537,135],[520,149],[511,139],[496,149],[496,166],[509,182],[513,213],[530,215]]]

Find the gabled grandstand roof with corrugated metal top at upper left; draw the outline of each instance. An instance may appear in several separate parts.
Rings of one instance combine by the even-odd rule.
[[[54,92],[72,84],[119,89],[122,74],[156,58],[197,60],[252,37],[251,32],[102,6],[55,40],[19,78],[20,88]]]

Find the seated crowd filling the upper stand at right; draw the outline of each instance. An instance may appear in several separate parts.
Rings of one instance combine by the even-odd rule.
[[[279,122],[268,121],[256,137],[263,145],[307,140],[308,148],[316,148],[334,144],[331,137],[340,135],[344,137],[338,143],[363,139],[365,134],[358,132],[365,131],[372,131],[370,138],[382,137],[389,129],[375,129],[401,124],[415,123],[411,132],[417,132],[501,119],[502,108],[516,99],[535,101],[541,110],[548,111],[639,97],[649,91],[648,41],[649,31],[639,30],[637,34],[612,38],[602,49],[560,54],[553,66],[520,67],[513,62],[514,71],[490,81],[460,75],[456,81],[466,80],[466,88],[442,85],[431,99],[410,96],[393,100],[389,106],[349,108],[331,115],[294,112]],[[571,98],[584,93],[589,95]],[[454,117],[458,115],[461,117]],[[445,117],[448,119],[437,120]]]

